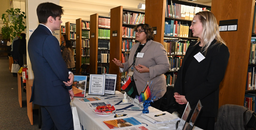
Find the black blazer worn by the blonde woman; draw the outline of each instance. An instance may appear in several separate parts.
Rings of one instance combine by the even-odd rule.
[[[202,53],[205,59],[198,62],[194,56],[184,77],[184,94],[182,93],[182,71],[187,57],[195,48],[192,42],[187,48],[181,68],[178,71],[174,85],[174,92],[185,95],[191,108],[194,110],[198,100],[201,101],[203,109],[201,116],[216,117],[219,105],[219,84],[224,78],[224,74],[229,61],[229,49],[224,44],[213,45],[213,40],[207,53]]]

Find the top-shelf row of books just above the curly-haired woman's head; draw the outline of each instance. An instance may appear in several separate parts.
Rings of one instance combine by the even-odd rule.
[[[123,12],[123,24],[141,24],[145,22],[145,14]]]

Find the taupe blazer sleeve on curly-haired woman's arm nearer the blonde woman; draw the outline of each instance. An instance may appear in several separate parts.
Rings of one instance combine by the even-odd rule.
[[[154,49],[154,60],[156,65],[149,67],[150,79],[154,79],[155,77],[166,73],[170,68],[170,63],[166,54],[166,50],[160,43],[157,44]]]

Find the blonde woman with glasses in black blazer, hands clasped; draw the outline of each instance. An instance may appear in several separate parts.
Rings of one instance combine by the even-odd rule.
[[[182,115],[189,102],[194,110],[198,101],[203,106],[195,126],[214,130],[219,106],[219,84],[229,61],[229,49],[219,35],[215,16],[198,12],[189,27],[198,40],[187,48],[174,85],[174,97]]]

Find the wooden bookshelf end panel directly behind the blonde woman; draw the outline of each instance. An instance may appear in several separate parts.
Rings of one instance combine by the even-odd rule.
[[[227,5],[229,8],[226,8]],[[244,105],[254,6],[255,0],[246,3],[241,0],[212,1],[211,12],[217,23],[220,20],[238,19],[237,31],[220,32],[229,48],[230,57],[224,80],[219,86],[219,107],[224,104]]]

